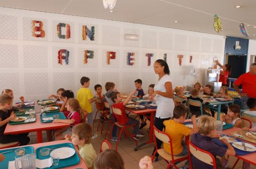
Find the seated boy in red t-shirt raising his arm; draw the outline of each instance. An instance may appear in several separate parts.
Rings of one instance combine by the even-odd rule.
[[[112,107],[114,108],[118,108],[122,111],[122,116],[119,115],[115,115],[118,124],[120,125],[133,125],[135,124],[135,126],[133,127],[133,135],[132,137],[134,139],[139,139],[139,137],[143,137],[144,135],[140,133],[140,128],[139,128],[139,121],[135,120],[133,118],[127,118],[127,114],[125,112],[124,106],[127,105],[127,103],[131,100],[133,93],[135,93],[136,91],[133,91],[130,93],[130,95],[127,97],[127,99],[122,102],[122,97],[120,96],[120,92],[113,92],[111,95],[111,100],[113,102],[115,102],[114,105],[112,105]]]

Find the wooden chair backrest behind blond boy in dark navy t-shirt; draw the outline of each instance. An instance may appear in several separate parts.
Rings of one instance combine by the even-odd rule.
[[[195,158],[199,159],[200,161],[202,161],[204,163],[212,165],[214,167],[214,169],[216,169],[215,157],[210,152],[207,152],[201,148],[198,148],[197,146],[192,144],[190,141],[188,142],[188,145],[189,145],[188,148],[189,148],[189,160],[190,160],[191,169],[193,169],[191,154]]]

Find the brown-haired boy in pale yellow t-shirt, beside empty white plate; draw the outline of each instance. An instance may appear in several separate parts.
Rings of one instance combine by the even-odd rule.
[[[72,136],[65,136],[66,139],[71,137],[73,145],[78,145],[79,154],[83,158],[88,169],[95,168],[94,163],[97,157],[96,151],[91,144],[92,133],[93,130],[91,125],[80,123],[72,128]]]

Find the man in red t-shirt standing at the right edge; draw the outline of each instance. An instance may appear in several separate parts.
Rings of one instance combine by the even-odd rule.
[[[238,86],[242,85],[242,92]],[[233,83],[236,92],[242,97],[241,109],[249,109],[246,102],[249,98],[256,98],[256,62],[251,64],[250,71],[242,74]]]

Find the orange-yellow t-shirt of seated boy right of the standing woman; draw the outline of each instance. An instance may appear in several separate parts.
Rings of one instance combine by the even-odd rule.
[[[191,129],[187,128],[185,125],[177,123],[174,120],[164,121],[165,132],[170,135],[173,143],[173,154],[178,155],[182,152],[182,140],[184,135],[187,136],[191,132]],[[170,153],[170,144],[164,143],[164,149],[166,152]]]

